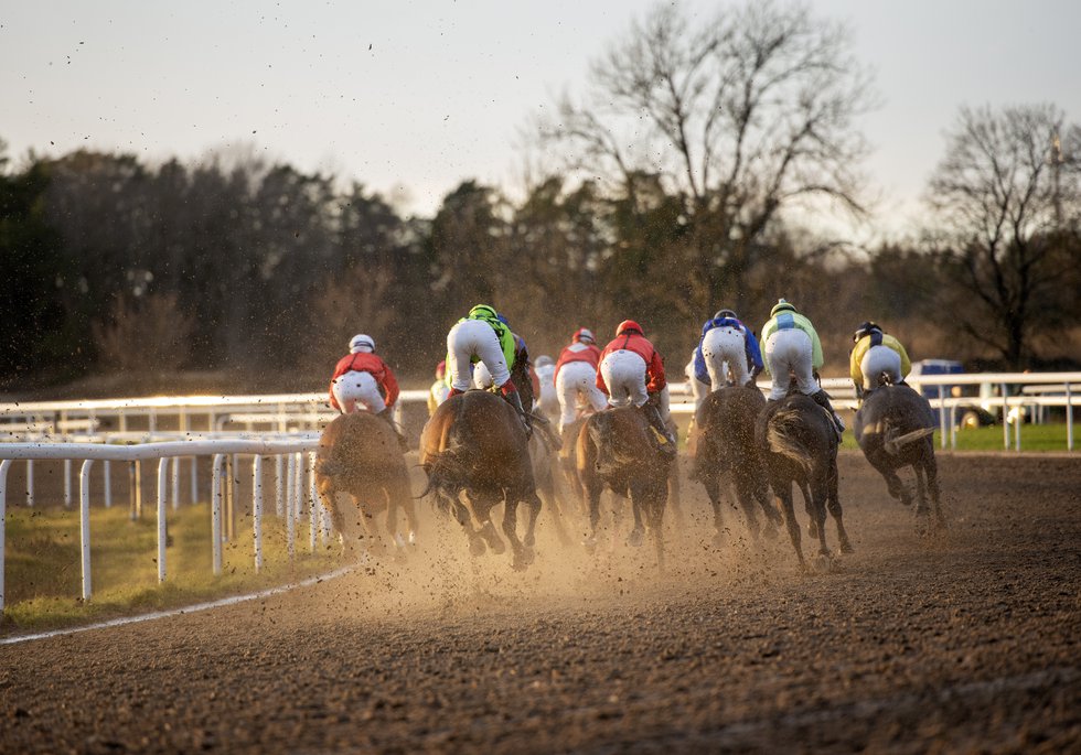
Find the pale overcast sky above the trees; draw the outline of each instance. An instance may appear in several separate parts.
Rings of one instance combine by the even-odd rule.
[[[655,0],[0,0],[0,139],[151,162],[238,149],[430,214],[464,179],[513,190],[520,131]],[[718,2],[687,0],[711,13]],[[1081,119],[1078,0],[813,0],[849,23],[882,106],[861,122],[879,224],[902,229],[962,105]]]

